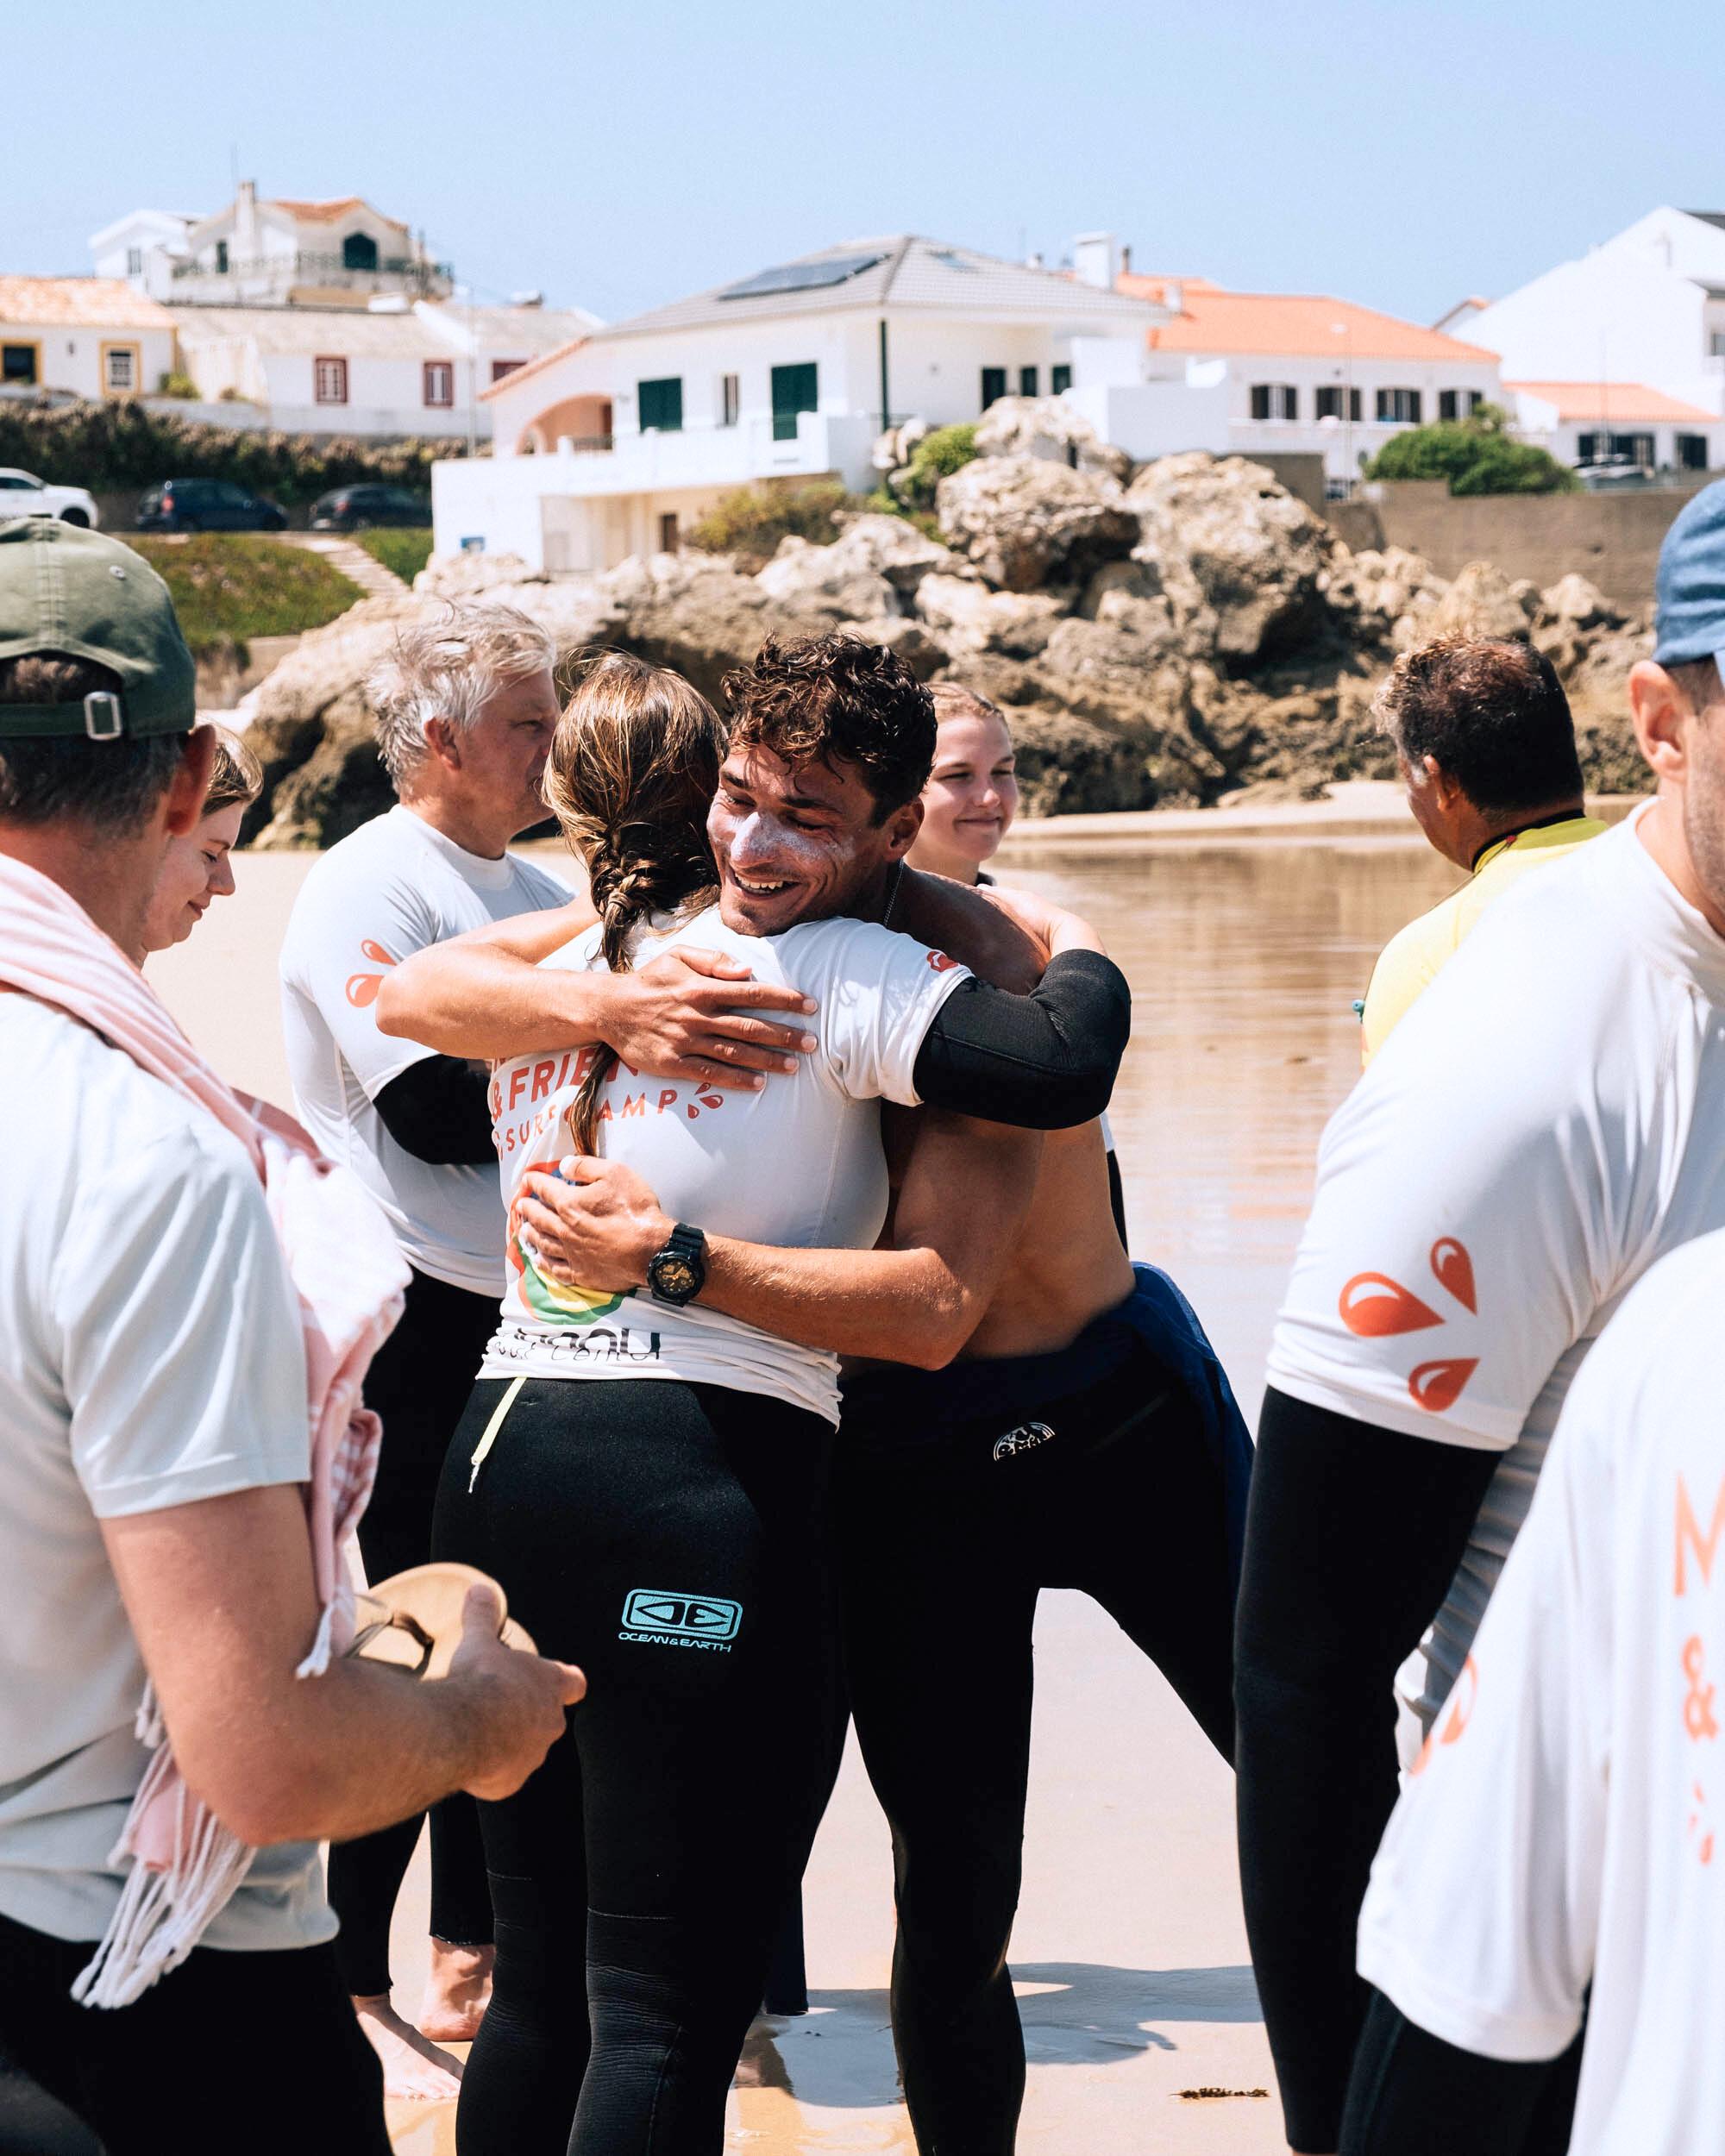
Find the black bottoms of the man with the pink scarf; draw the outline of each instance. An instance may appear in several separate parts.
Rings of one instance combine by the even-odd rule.
[[[114,2009],[71,1996],[93,1951],[0,1917],[4,2156],[390,2156],[332,1947],[198,1947]]]

